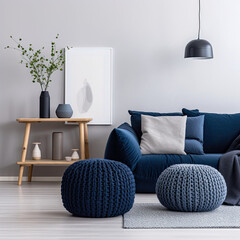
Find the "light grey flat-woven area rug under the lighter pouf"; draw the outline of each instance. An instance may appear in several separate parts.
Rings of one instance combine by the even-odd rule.
[[[123,216],[124,228],[240,228],[240,206],[211,212],[175,212],[160,203],[135,203]]]

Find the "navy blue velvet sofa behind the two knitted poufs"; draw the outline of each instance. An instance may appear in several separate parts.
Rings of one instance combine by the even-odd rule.
[[[203,164],[218,169],[218,161],[240,133],[240,113],[202,113],[198,110],[183,109],[183,113],[167,115],[205,115],[203,155],[142,155],[140,151],[139,127],[141,114],[161,116],[166,114],[131,112],[130,126],[122,124],[111,132],[105,149],[105,158],[125,163],[133,172],[137,192],[155,192],[159,175],[173,164]],[[135,129],[134,129],[135,128]],[[141,135],[141,133],[140,133]]]

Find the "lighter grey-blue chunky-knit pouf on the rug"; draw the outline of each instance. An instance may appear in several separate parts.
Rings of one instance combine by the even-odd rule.
[[[156,184],[160,203],[170,210],[205,212],[218,208],[225,200],[223,176],[206,165],[176,164],[165,169]]]

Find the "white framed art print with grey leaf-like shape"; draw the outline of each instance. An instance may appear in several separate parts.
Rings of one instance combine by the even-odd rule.
[[[65,103],[72,118],[92,118],[91,125],[112,124],[113,49],[65,49]]]

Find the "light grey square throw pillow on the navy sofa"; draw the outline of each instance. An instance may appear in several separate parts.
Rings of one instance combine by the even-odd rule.
[[[142,154],[181,154],[185,147],[187,116],[141,115]]]

